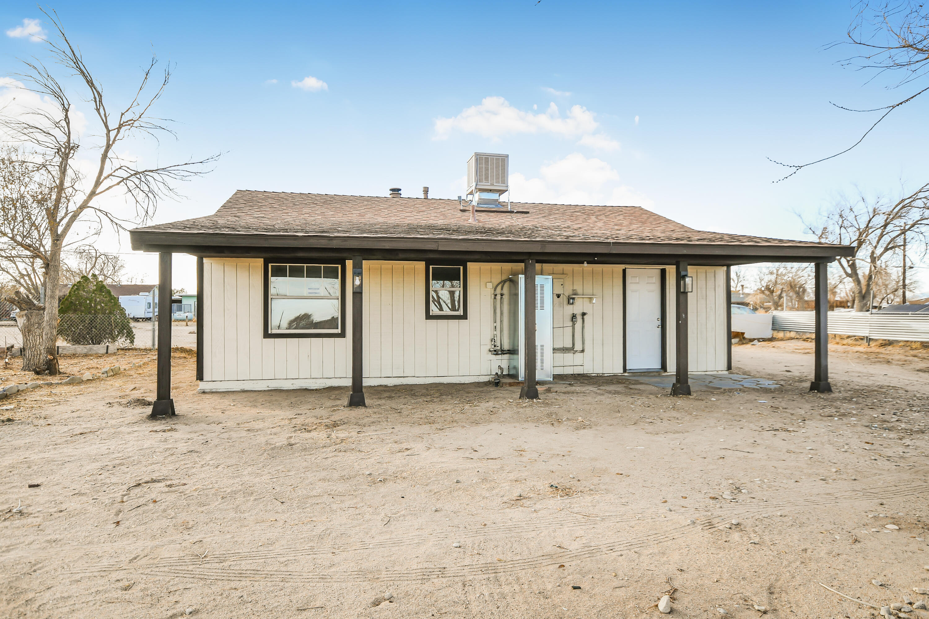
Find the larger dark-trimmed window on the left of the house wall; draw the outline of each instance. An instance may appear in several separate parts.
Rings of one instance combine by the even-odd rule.
[[[341,334],[341,265],[267,264],[268,334]]]

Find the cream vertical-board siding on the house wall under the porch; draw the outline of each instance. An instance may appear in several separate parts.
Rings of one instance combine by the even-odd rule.
[[[640,265],[635,265],[640,266]],[[674,368],[674,267],[668,269],[667,358]],[[346,264],[350,273],[351,264]],[[542,264],[540,275],[564,277],[565,292],[595,294],[596,303],[556,300],[554,326],[569,326],[587,312],[583,354],[556,354],[556,374],[622,372],[622,265]],[[254,259],[203,260],[204,390],[323,387],[350,384],[351,292],[347,286],[344,338],[262,337],[264,263]],[[468,265],[466,320],[425,319],[425,264],[364,263],[363,371],[366,384],[470,381],[492,376],[497,366],[515,370],[515,356],[491,355],[492,293],[519,275],[522,264]],[[690,363],[692,371],[726,369],[723,267],[691,267]],[[512,287],[507,287],[507,292]],[[580,321],[578,342],[580,347]],[[555,346],[570,345],[570,329],[556,329]]]

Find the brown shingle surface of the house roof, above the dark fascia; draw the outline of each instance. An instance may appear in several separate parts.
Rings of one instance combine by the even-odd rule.
[[[474,239],[576,242],[811,246],[810,241],[705,232],[638,206],[514,202],[515,213],[478,210],[478,224],[458,200],[236,191],[212,215],[137,228],[137,232]],[[833,246],[836,248],[842,246]]]

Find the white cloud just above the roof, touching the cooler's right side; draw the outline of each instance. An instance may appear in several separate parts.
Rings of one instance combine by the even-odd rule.
[[[650,207],[652,200],[622,184],[620,174],[606,161],[571,153],[543,165],[539,176],[510,174],[512,200],[552,204],[603,204]]]

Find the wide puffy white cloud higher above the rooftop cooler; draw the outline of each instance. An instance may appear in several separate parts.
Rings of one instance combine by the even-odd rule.
[[[532,110],[537,107],[533,105]],[[579,137],[578,144],[599,150],[620,148],[620,143],[608,135],[595,133],[599,127],[595,113],[580,105],[571,106],[562,116],[554,102],[549,103],[544,112],[535,113],[514,108],[504,97],[485,97],[480,105],[466,108],[457,116],[437,118],[434,139],[447,139],[455,131],[490,137],[494,141],[504,135],[551,134]]]

